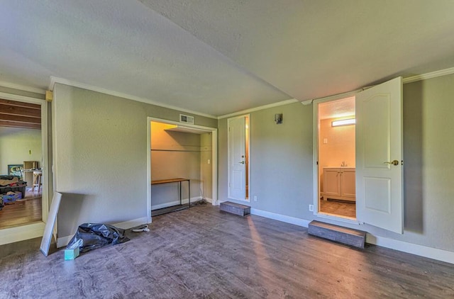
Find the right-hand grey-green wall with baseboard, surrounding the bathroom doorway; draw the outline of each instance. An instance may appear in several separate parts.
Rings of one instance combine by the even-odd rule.
[[[404,84],[404,234],[338,225],[454,252],[454,75]],[[252,208],[314,220],[313,120],[300,103],[251,113]],[[284,124],[273,115],[284,113]],[[218,122],[219,200],[227,200],[227,120]],[[319,219],[320,220],[320,219]]]

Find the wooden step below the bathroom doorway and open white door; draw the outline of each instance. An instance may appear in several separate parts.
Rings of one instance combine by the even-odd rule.
[[[347,227],[331,225],[325,222],[313,220],[309,223],[309,235],[329,239],[334,242],[364,249],[366,232],[353,230]]]

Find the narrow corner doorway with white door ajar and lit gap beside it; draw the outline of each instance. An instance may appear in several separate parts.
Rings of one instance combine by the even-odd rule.
[[[228,198],[250,201],[250,115],[227,120]]]

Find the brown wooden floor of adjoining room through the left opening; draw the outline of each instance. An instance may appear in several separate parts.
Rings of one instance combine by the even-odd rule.
[[[41,193],[27,191],[25,198],[0,210],[0,229],[41,221],[41,213]]]

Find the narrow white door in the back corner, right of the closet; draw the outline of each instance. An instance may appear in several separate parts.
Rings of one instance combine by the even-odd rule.
[[[246,117],[228,120],[228,198],[246,200],[245,176]]]

